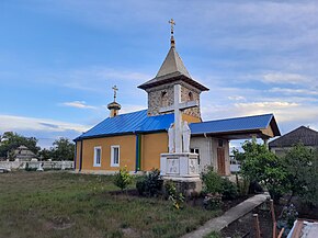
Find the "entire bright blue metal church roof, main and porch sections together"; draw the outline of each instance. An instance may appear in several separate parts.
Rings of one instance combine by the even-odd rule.
[[[75,140],[102,136],[168,131],[173,121],[173,113],[148,116],[147,110],[143,110],[117,115],[115,117],[107,117]],[[274,121],[274,134],[280,135],[273,114],[191,123],[190,128],[192,135],[247,132],[268,128],[272,121]]]

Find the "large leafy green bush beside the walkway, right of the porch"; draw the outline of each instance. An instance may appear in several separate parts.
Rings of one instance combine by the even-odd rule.
[[[287,173],[281,160],[265,145],[257,144],[255,139],[242,145],[243,152],[235,150],[241,161],[241,174],[249,181],[264,184],[274,200],[287,191]]]

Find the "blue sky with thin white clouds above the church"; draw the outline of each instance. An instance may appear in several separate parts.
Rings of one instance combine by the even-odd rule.
[[[42,147],[147,107],[137,86],[170,47],[170,25],[203,121],[274,113],[282,134],[318,129],[318,1],[1,0],[0,134]]]

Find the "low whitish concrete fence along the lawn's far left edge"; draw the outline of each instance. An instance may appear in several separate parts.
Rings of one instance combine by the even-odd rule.
[[[29,168],[37,169],[42,163],[44,170],[50,169],[73,169],[73,161],[0,161],[0,168],[19,170],[25,169],[26,163]]]

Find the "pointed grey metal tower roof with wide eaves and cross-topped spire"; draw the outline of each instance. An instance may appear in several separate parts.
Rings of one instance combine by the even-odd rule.
[[[186,70],[181,57],[175,50],[175,42],[173,37],[174,21],[171,19],[169,23],[171,23],[171,39],[170,39],[171,46],[168,52],[168,55],[166,56],[166,59],[161,65],[157,76],[154,79],[150,79],[149,81],[138,86],[138,88],[146,90],[156,86],[164,84],[167,82],[184,81],[193,86],[194,88],[197,88],[201,91],[207,91],[208,88],[193,80],[189,71]]]

